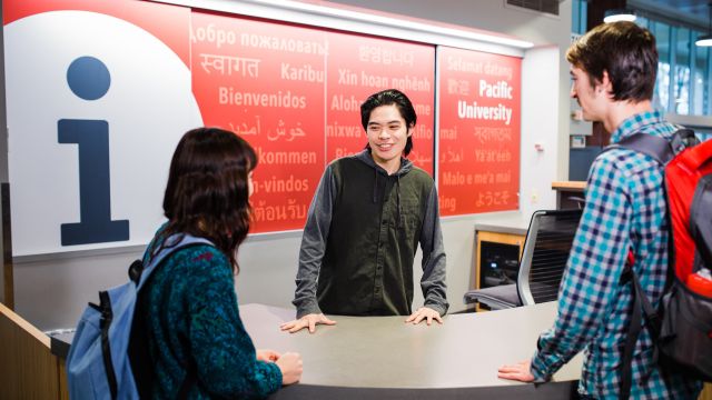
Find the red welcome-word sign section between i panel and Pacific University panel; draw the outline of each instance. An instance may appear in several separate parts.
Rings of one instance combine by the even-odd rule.
[[[366,144],[360,103],[403,90],[418,114],[416,166],[433,163],[435,49],[194,11],[192,86],[206,126],[257,151],[253,232],[300,229],[326,163]]]

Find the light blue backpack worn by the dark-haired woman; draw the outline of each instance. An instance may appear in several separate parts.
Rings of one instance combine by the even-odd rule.
[[[209,244],[209,240],[175,234],[154,254],[146,268],[141,260],[129,267],[130,281],[100,291],[99,306],[89,303],[67,356],[67,380],[71,399],[138,399],[150,397],[151,361],[141,319],[134,320],[138,293],[161,261],[179,249]],[[149,248],[150,251],[150,248]],[[179,398],[196,380],[188,366]]]

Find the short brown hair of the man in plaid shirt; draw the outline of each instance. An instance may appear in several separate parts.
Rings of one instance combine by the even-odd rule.
[[[640,102],[653,98],[657,73],[655,37],[634,22],[603,23],[566,51],[566,60],[589,74],[591,84],[609,73],[613,100]]]

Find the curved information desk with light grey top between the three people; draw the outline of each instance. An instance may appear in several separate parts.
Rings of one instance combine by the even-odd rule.
[[[405,317],[335,316],[334,327],[289,334],[279,324],[291,320],[294,310],[240,306],[257,348],[297,351],[304,359],[300,383],[270,399],[568,399],[576,389],[581,356],[550,383],[497,378],[501,364],[532,356],[536,338],[551,327],[555,312],[556,303],[551,302],[446,316],[444,324],[431,327],[404,323]],[[56,338],[52,346],[66,353],[70,340]]]

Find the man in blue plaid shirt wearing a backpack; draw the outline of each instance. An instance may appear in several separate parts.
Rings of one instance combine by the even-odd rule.
[[[651,104],[657,69],[655,38],[633,22],[601,24],[566,52],[571,96],[583,117],[612,132],[611,142],[635,132],[670,138],[678,127]],[[635,273],[653,307],[668,276],[668,238],[662,168],[651,157],[614,149],[589,172],[586,206],[558,291],[554,326],[540,336],[531,360],[500,368],[500,378],[545,382],[584,351],[578,392],[586,399],[616,399],[621,360],[633,308],[632,284],[621,282],[629,249]],[[695,399],[701,382],[661,369],[647,329],[632,362],[631,398]]]

